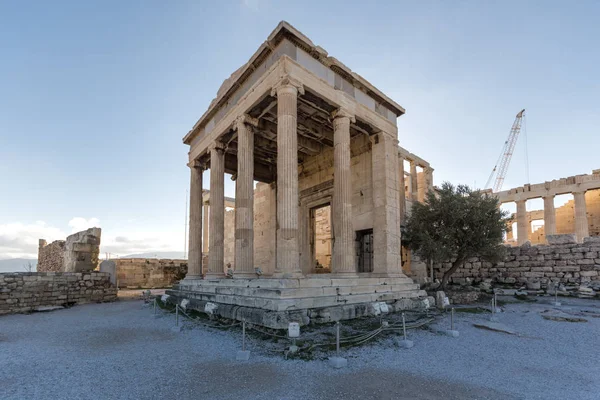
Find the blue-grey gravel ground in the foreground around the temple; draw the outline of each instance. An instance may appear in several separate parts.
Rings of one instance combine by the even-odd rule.
[[[561,309],[600,314],[600,303]],[[152,318],[141,301],[91,304],[0,317],[2,399],[598,399],[600,318],[556,322],[550,305],[511,304],[501,323],[519,335],[476,329],[485,314],[456,314],[459,338],[410,331],[415,347],[387,336],[344,350],[348,368],[284,360],[252,339],[236,362],[239,329],[221,331],[174,316]],[[588,317],[588,315],[590,317]],[[438,322],[448,324],[448,320]]]

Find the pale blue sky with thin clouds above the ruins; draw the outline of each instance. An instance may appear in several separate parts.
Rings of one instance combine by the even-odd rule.
[[[183,250],[181,138],[282,19],[406,108],[400,144],[436,184],[482,186],[522,108],[530,182],[590,173],[598,15],[584,1],[0,0],[0,259],[93,224],[103,251]],[[504,188],[527,182],[524,144]]]

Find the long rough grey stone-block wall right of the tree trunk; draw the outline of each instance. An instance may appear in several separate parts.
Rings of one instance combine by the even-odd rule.
[[[436,278],[441,279],[450,266],[450,262],[435,265]],[[600,238],[586,238],[581,244],[507,247],[504,261],[492,264],[471,258],[450,281],[465,284],[485,279],[515,287],[539,283],[546,288],[549,282],[600,287]]]

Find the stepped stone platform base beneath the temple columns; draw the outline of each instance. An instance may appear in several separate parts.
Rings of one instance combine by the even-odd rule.
[[[222,318],[287,329],[340,321],[387,311],[426,309],[433,298],[406,276],[328,278],[309,275],[295,279],[183,280],[167,290],[167,301]],[[385,312],[385,306],[384,312]]]

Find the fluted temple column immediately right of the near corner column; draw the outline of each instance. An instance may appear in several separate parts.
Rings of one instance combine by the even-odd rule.
[[[350,122],[344,110],[333,114],[333,268],[338,276],[356,276],[352,227],[352,174],[350,172]]]

